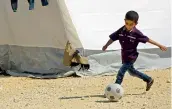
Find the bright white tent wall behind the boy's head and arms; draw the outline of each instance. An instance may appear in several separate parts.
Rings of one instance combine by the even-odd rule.
[[[129,10],[139,13],[137,27],[145,35],[171,46],[170,0],[66,0],[66,3],[85,49],[100,50],[109,34],[124,24],[125,13]],[[139,48],[153,47],[139,45]],[[119,48],[118,43],[109,47]]]

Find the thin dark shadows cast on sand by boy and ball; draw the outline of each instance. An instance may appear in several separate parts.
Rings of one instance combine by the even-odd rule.
[[[145,95],[146,92],[142,92],[142,93],[131,93],[131,94],[124,94],[123,97],[126,97],[126,96],[131,96],[131,95]],[[82,98],[106,98],[104,95],[87,95],[87,96],[72,96],[72,97],[60,97],[59,99],[60,100],[67,100],[67,99],[82,99]],[[97,103],[110,103],[109,100],[98,100],[98,101],[95,101]]]

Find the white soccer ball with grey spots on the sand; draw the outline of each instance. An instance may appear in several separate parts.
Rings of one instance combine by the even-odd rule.
[[[109,84],[105,89],[105,96],[110,101],[119,101],[124,94],[124,90],[119,84]]]

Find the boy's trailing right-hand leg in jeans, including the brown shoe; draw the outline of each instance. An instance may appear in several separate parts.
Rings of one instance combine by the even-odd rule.
[[[130,75],[136,76],[136,77],[142,79],[143,81],[145,81],[147,83],[146,91],[149,91],[149,89],[151,88],[151,86],[154,82],[154,80],[150,76],[137,71],[133,65],[128,69],[128,72],[130,73]]]

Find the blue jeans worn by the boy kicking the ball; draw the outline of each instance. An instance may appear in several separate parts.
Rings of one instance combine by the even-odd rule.
[[[130,75],[138,77],[138,78],[142,79],[145,82],[149,82],[152,79],[148,75],[137,71],[134,68],[134,65],[133,65],[132,62],[128,62],[128,63],[123,63],[122,67],[118,71],[115,83],[117,83],[117,84],[121,84],[122,83],[126,71],[128,71],[130,73]]]

